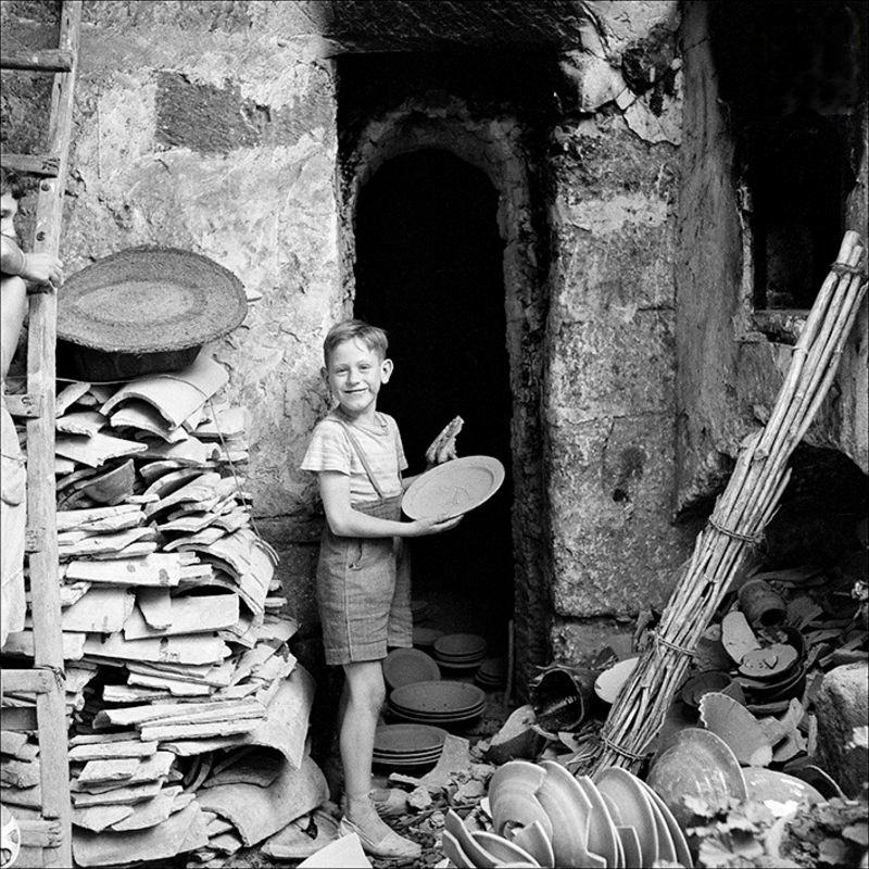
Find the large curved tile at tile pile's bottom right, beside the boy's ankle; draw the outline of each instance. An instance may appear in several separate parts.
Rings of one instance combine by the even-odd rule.
[[[284,763],[268,788],[223,784],[199,792],[203,809],[231,821],[244,845],[254,845],[290,821],[312,811],[329,796],[319,767],[305,757],[299,769]]]

